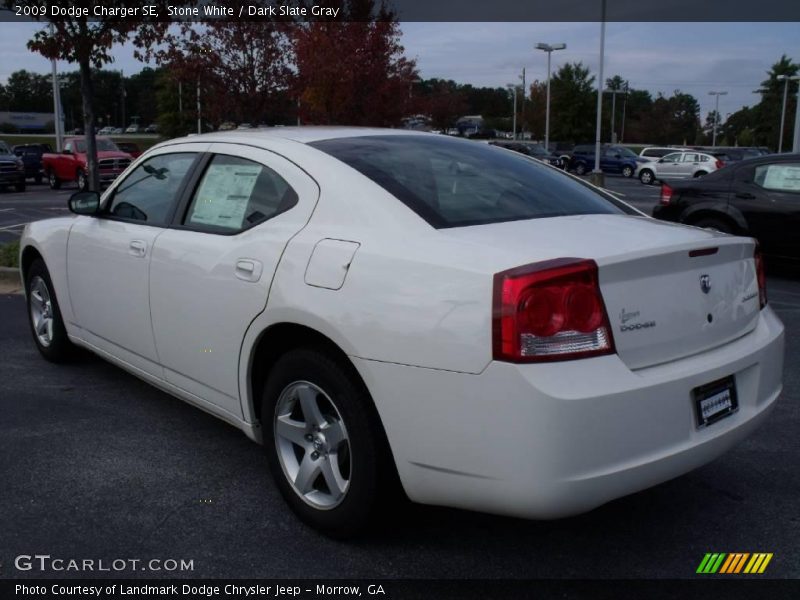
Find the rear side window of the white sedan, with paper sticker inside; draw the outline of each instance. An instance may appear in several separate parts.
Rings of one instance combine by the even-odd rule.
[[[275,171],[220,154],[206,168],[183,225],[212,233],[237,233],[295,204],[297,194]]]

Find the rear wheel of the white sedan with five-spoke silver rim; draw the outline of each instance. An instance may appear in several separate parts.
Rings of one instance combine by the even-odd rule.
[[[261,422],[275,484],[300,519],[333,537],[362,531],[394,467],[351,370],[315,349],[288,352],[267,379]]]

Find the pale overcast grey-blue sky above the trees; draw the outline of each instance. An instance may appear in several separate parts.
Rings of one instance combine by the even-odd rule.
[[[25,47],[39,27],[0,23],[0,82],[18,69],[49,72],[49,62]],[[504,86],[519,82],[525,67],[528,81],[543,80],[547,61],[533,49],[537,42],[567,44],[553,53],[553,70],[582,61],[596,75],[599,65],[599,23],[402,23],[401,29],[406,55],[416,58],[423,78]],[[115,63],[108,68],[132,74],[144,66],[129,44],[113,54]],[[654,95],[675,89],[691,93],[703,117],[714,108],[708,92],[727,91],[720,98],[724,116],[758,101],[753,91],[781,54],[800,61],[800,24],[608,23],[604,78],[619,74]]]

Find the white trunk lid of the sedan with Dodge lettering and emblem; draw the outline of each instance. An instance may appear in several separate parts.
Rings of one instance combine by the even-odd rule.
[[[490,246],[504,259],[498,271],[552,258],[595,260],[617,353],[631,369],[723,345],[758,320],[750,238],[617,215],[497,223],[446,235]]]

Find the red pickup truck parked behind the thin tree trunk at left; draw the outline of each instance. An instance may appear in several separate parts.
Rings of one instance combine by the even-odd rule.
[[[131,155],[122,152],[108,138],[97,138],[97,161],[100,168],[100,181],[108,183],[114,181],[128,165],[131,164]],[[86,139],[66,138],[64,150],[61,154],[43,154],[42,170],[47,176],[50,187],[57,190],[66,181],[77,181],[78,188],[85,190],[89,187],[89,168],[86,162]]]

